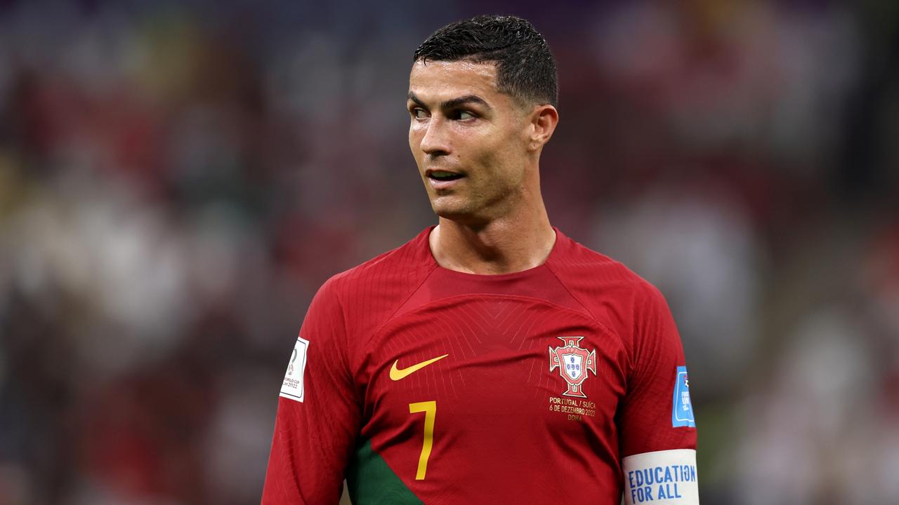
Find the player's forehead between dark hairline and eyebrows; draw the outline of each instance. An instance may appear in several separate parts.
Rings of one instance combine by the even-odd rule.
[[[497,100],[496,65],[471,61],[416,61],[409,74],[409,91],[423,101],[443,101],[476,94],[487,102]]]

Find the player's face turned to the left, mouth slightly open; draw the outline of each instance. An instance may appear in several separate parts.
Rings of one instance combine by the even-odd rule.
[[[409,147],[431,207],[478,224],[503,216],[524,188],[528,118],[496,89],[496,66],[421,60],[409,75]]]

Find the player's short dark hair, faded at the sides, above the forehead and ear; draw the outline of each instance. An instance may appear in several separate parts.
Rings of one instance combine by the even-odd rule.
[[[415,49],[413,62],[494,62],[496,87],[524,102],[558,104],[556,58],[530,22],[516,16],[481,15],[451,22]]]

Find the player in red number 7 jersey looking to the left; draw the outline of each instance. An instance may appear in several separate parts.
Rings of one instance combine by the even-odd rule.
[[[409,146],[438,226],[325,282],[291,355],[266,505],[696,504],[663,297],[549,224],[547,42],[512,16],[436,31]]]

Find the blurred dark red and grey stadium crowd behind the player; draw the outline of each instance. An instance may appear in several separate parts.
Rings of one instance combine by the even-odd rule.
[[[415,47],[556,52],[556,226],[668,297],[704,505],[899,503],[899,4],[0,2],[0,504],[258,503],[316,288],[435,221]]]

